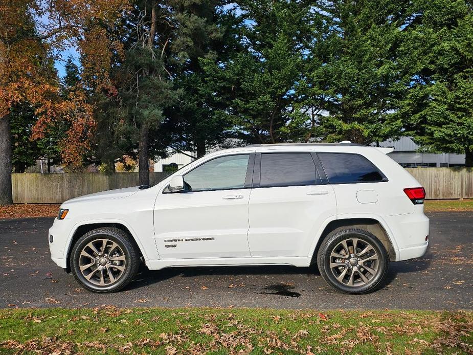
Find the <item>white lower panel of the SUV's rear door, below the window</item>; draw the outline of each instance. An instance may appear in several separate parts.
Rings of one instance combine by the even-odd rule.
[[[251,256],[305,257],[322,222],[336,217],[335,193],[330,185],[257,188],[249,212]]]

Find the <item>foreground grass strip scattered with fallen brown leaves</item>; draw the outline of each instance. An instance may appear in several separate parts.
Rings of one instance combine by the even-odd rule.
[[[0,353],[468,353],[473,313],[0,309]]]

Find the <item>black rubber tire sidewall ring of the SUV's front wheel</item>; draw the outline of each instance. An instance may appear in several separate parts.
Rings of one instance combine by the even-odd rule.
[[[122,248],[123,253],[125,254],[126,258],[126,264],[125,264],[125,270],[120,277],[120,280],[114,284],[111,284],[109,286],[98,286],[94,285],[93,283],[87,281],[87,279],[82,275],[79,269],[79,256],[82,251],[82,249],[91,241],[96,240],[96,239],[101,239],[101,238],[107,238],[109,240],[112,240],[116,242],[120,248]],[[123,241],[121,240],[120,237],[104,232],[104,231],[92,231],[81,238],[77,241],[77,243],[74,246],[74,249],[71,253],[71,270],[74,274],[74,277],[80,282],[82,286],[84,286],[86,289],[90,291],[95,291],[95,292],[112,292],[114,290],[119,290],[121,289],[123,283],[128,283],[128,279],[131,273],[131,261],[132,260],[132,255],[131,251],[125,246]]]

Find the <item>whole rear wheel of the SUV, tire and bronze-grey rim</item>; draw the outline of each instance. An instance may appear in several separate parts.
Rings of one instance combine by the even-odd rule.
[[[379,239],[358,228],[332,231],[317,253],[317,265],[324,280],[348,294],[375,291],[386,277],[388,263],[388,252]]]

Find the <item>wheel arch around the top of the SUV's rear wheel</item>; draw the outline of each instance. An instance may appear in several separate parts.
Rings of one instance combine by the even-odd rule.
[[[325,237],[337,230],[343,229],[347,227],[352,228],[360,228],[367,230],[368,232],[374,234],[382,243],[382,245],[386,248],[388,252],[389,260],[395,261],[397,259],[396,254],[396,246],[393,243],[392,238],[390,237],[387,228],[385,225],[378,219],[373,217],[364,217],[364,218],[342,218],[342,219],[333,219],[327,223],[325,228],[323,229],[322,233],[317,240],[317,245],[312,252],[310,264],[313,264],[317,261],[317,253],[322,245],[323,240]]]

